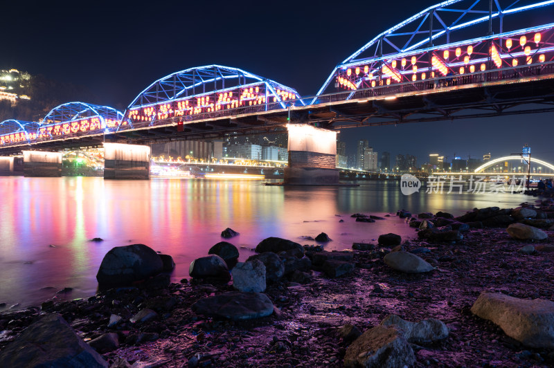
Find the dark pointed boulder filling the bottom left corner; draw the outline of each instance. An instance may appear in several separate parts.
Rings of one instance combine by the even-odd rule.
[[[0,367],[108,367],[59,314],[48,314],[0,351]]]

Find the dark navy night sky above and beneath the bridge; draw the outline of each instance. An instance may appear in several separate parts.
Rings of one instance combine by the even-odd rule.
[[[10,1],[0,68],[88,86],[125,107],[146,86],[194,66],[234,66],[314,95],[333,67],[435,1]],[[390,5],[388,5],[390,4]],[[517,152],[550,160],[554,114],[345,129],[379,152],[452,157]],[[353,147],[352,147],[353,149]]]

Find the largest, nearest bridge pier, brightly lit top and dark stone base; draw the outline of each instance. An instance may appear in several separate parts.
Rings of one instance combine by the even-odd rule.
[[[311,125],[288,125],[289,167],[285,185],[337,185],[337,132]]]

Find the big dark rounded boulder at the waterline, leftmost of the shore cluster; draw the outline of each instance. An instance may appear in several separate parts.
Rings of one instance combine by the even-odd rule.
[[[163,270],[163,261],[157,252],[144,244],[111,248],[106,253],[96,279],[98,284],[131,284],[147,279]]]

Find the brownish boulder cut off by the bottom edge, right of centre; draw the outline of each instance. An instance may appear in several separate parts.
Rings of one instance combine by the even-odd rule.
[[[362,333],[344,356],[345,367],[410,367],[415,355],[402,332],[394,326],[375,326]]]

